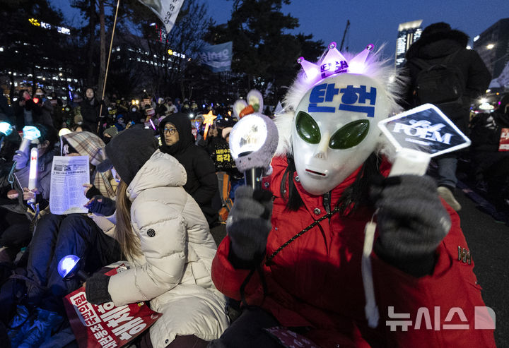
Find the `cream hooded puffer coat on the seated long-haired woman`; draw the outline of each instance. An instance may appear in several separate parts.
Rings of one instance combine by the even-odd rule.
[[[151,301],[163,316],[151,327],[153,347],[175,335],[218,338],[228,327],[226,300],[213,286],[216,244],[197,203],[182,188],[185,169],[157,150],[127,188],[131,225],[143,255],[110,278],[116,306]]]

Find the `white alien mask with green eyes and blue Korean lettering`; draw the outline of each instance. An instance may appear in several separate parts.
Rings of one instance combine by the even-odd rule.
[[[305,191],[322,195],[341,184],[378,145],[388,116],[384,88],[368,76],[342,73],[308,90],[295,112],[293,158]]]

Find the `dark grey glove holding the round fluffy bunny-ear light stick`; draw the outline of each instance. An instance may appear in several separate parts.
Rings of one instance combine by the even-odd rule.
[[[253,192],[250,186],[237,188],[235,203],[226,220],[226,232],[231,241],[230,261],[235,267],[249,268],[262,259],[272,229],[271,214],[269,191]]]

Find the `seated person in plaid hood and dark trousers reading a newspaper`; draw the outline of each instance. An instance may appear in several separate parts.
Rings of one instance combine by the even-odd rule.
[[[88,198],[94,204],[86,208],[94,214],[43,216],[37,224],[30,243],[27,265],[27,306],[18,306],[8,332],[11,345],[39,347],[52,329],[65,317],[62,297],[80,286],[80,281],[64,281],[57,265],[69,254],[83,260],[81,268],[94,272],[105,265],[120,260],[119,244],[112,237],[115,225],[111,215],[115,212],[115,198],[108,173],[100,173],[95,166],[105,160],[105,144],[98,136],[89,132],[69,133],[62,136],[61,153],[66,156],[88,156],[90,160],[90,183],[85,184]],[[110,220],[107,219],[110,217]],[[28,311],[31,308],[31,311]],[[32,313],[30,313],[32,312]],[[23,325],[21,325],[24,323]]]

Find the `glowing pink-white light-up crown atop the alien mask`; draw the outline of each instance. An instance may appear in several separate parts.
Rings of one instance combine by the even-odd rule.
[[[368,44],[363,52],[354,56],[350,61],[336,49],[336,42],[329,44],[329,52],[317,64],[306,61],[300,57],[297,61],[303,67],[308,80],[317,80],[327,78],[337,73],[363,73],[364,64],[368,58],[369,52],[373,49],[373,44]]]

